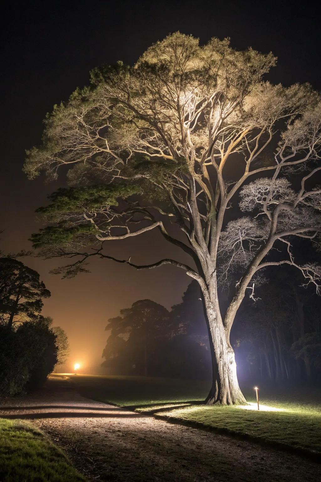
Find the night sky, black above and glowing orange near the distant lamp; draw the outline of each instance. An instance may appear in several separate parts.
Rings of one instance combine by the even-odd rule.
[[[22,173],[24,150],[39,143],[42,119],[55,103],[88,83],[92,67],[117,60],[132,64],[154,41],[180,30],[205,43],[231,37],[234,48],[272,51],[278,65],[273,82],[310,82],[321,90],[320,8],[301,1],[52,1],[15,2],[2,7],[0,248],[30,249],[40,227],[34,211],[56,185]],[[140,263],[172,256],[173,248],[156,232],[112,241],[110,253]],[[135,271],[95,260],[91,273],[61,281],[48,271],[56,262],[25,259],[51,290],[43,313],[54,318],[70,339],[70,366],[99,364],[104,327],[120,308],[151,298],[167,308],[180,302],[189,279],[166,266]],[[66,367],[66,369],[70,367]]]

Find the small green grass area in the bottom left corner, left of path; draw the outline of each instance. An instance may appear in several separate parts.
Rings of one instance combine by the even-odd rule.
[[[85,482],[38,428],[0,418],[0,481]]]

